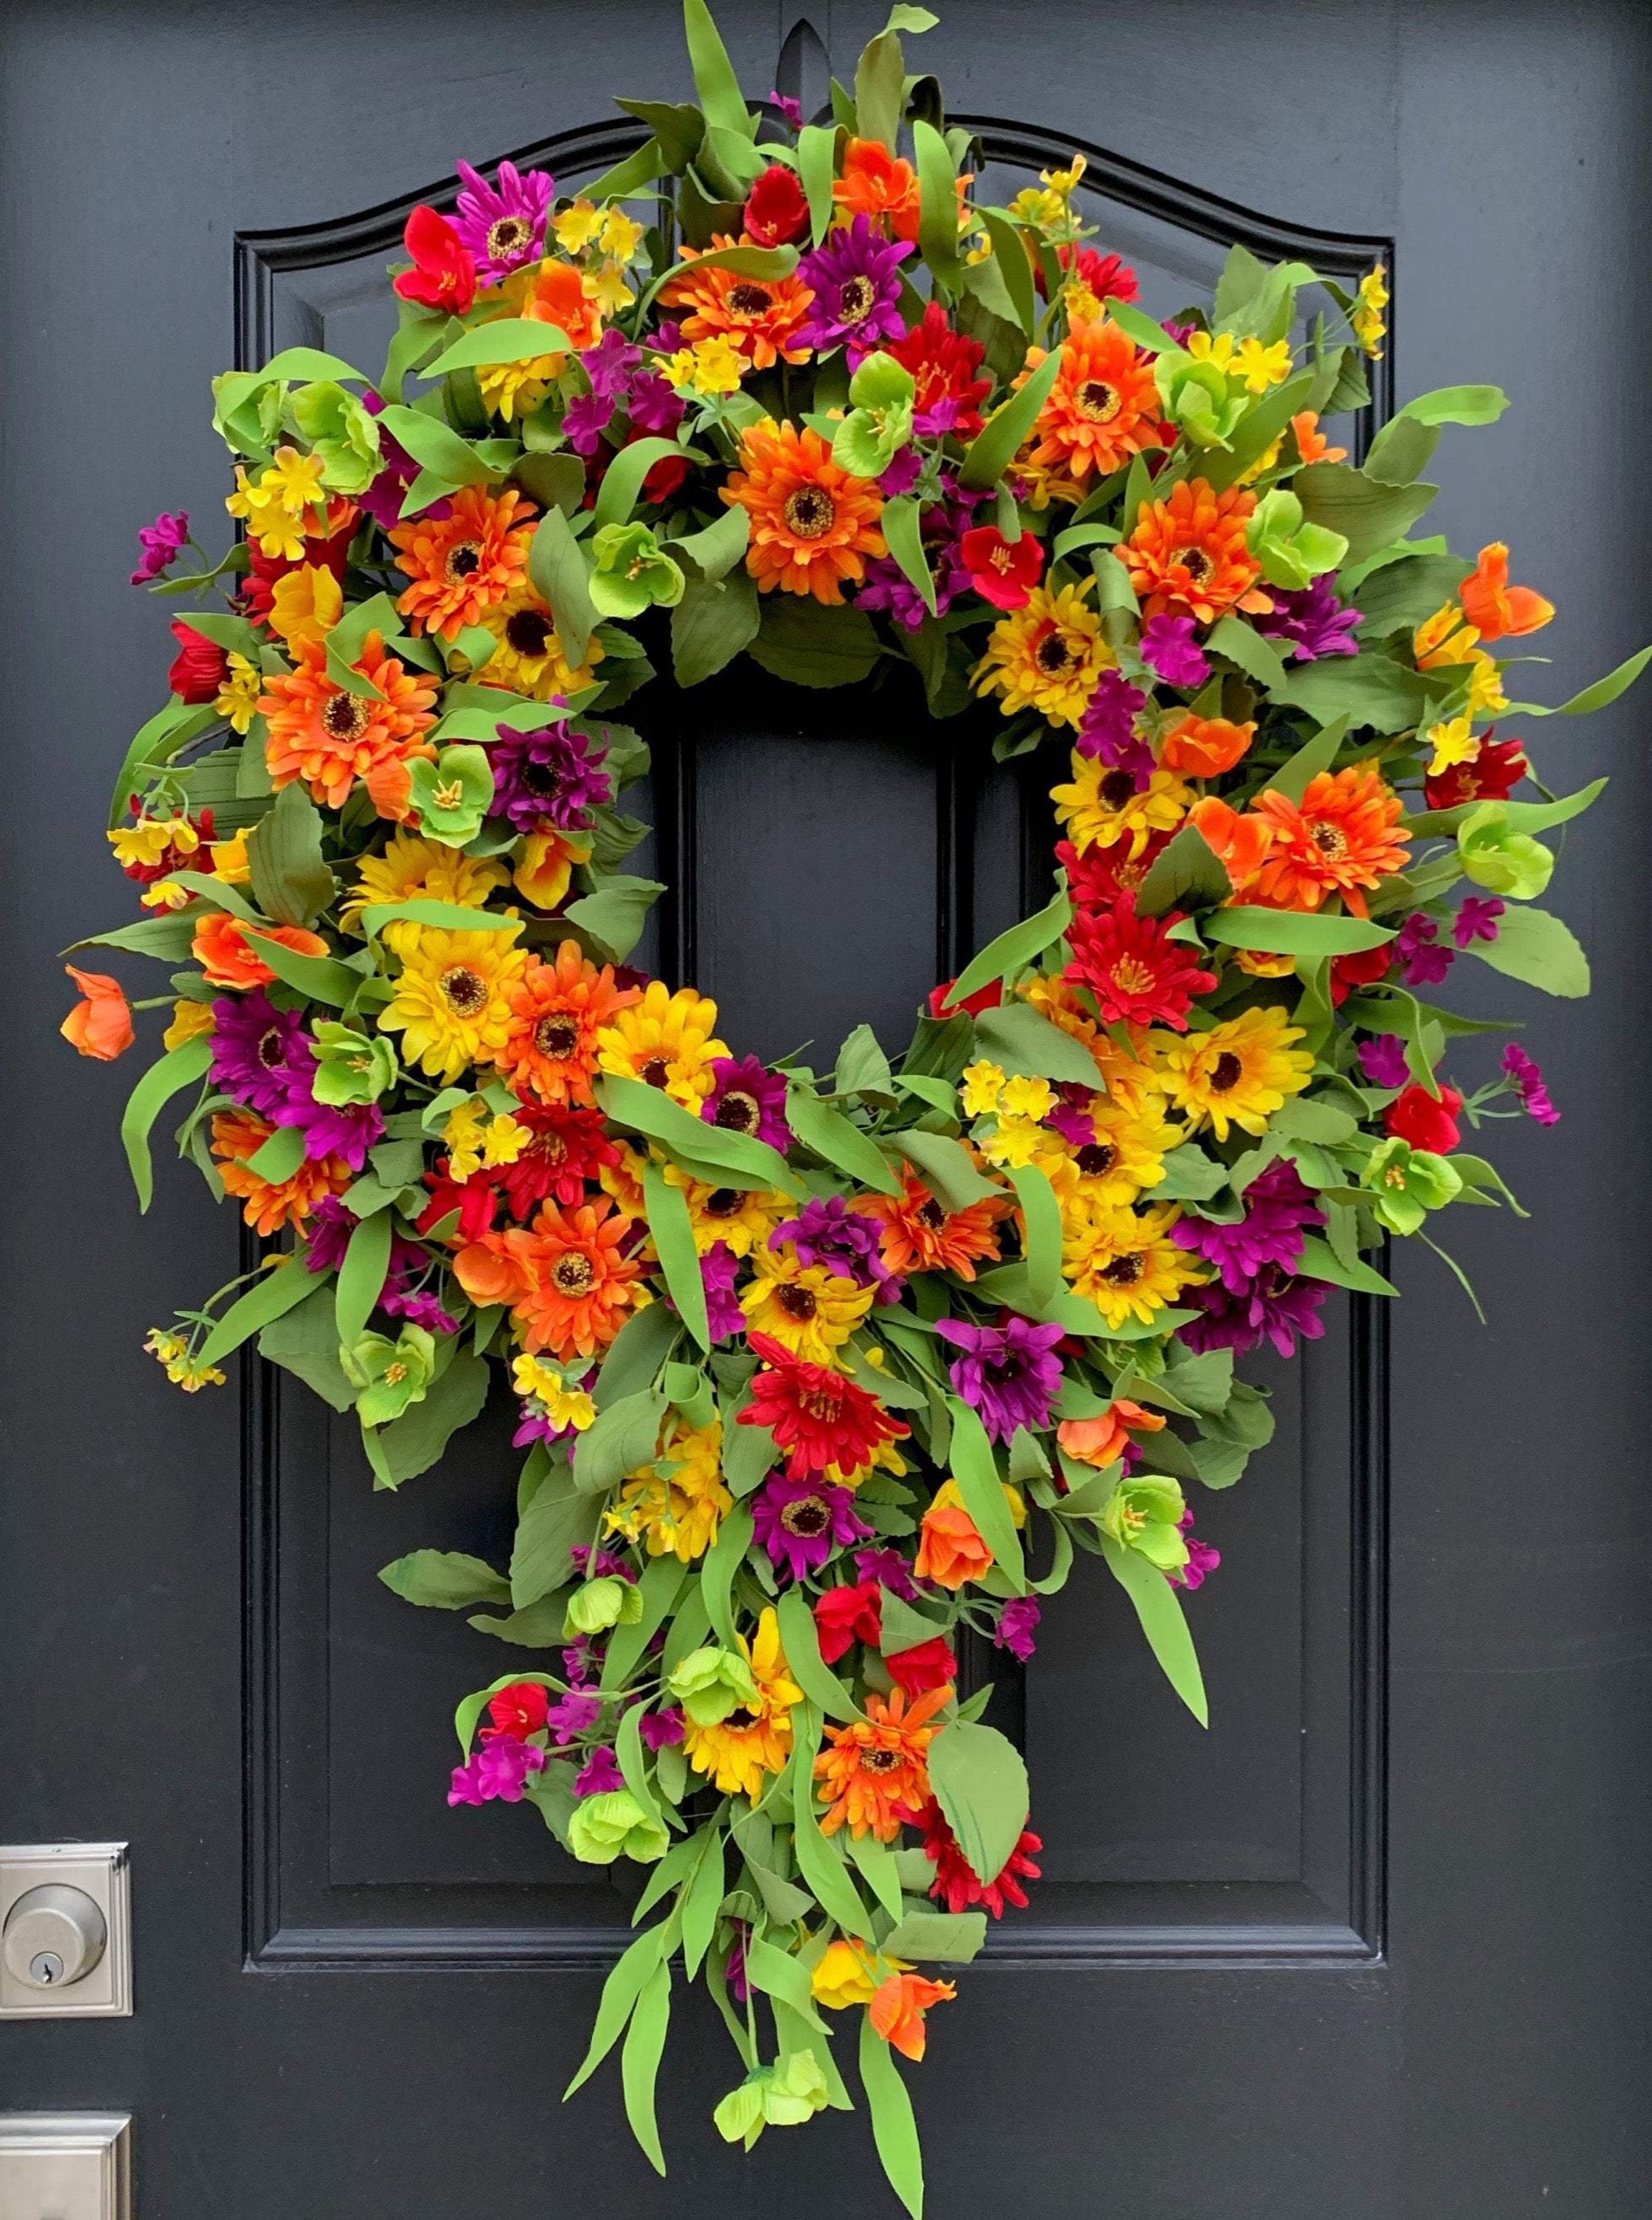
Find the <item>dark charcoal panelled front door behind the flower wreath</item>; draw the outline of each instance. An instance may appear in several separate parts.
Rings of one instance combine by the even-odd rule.
[[[719,13],[751,93],[784,67],[824,95],[795,0]],[[844,71],[879,20],[839,0],[815,31]],[[955,0],[924,67],[1010,189],[1088,151],[1101,244],[1152,313],[1235,238],[1330,273],[1386,258],[1401,397],[1514,393],[1457,442],[1443,524],[1517,542],[1557,593],[1563,695],[1645,617],[1645,31],[1630,4],[1557,49],[1541,13],[1468,4]],[[140,1239],[111,1088],[53,1032],[53,950],[102,917],[102,797],[169,646],[124,548],[162,504],[218,513],[209,375],[295,342],[375,360],[409,204],[455,153],[533,149],[564,189],[602,171],[635,142],[611,91],[686,93],[677,11],[18,0],[0,36],[0,1836],[131,1840],[138,1998],[0,2027],[0,2109],[131,2109],[147,2220],[893,2211],[859,2118],[751,2160],[717,2142],[702,1998],[662,2082],[664,2184],[611,2076],[560,2109],[626,1905],[522,1814],[446,1812],[446,1718],[508,1654],[373,1578],[422,1545],[497,1554],[504,1423],[373,1496],[286,1374],[171,1399],[144,1330],[231,1274],[231,1223],[162,1174],[167,1234]],[[1616,750],[1641,777],[1632,717],[1590,724],[1579,775]],[[659,688],[646,722],[639,868],[675,888],[651,959],[753,1050],[859,1017],[904,1039],[1044,899],[1037,790],[979,728],[751,684]],[[1572,835],[1603,992],[1548,1019],[1559,1134],[1501,1152],[1534,1225],[1468,1228],[1490,1330],[1408,1259],[1392,1330],[1352,1310],[1281,1368],[1275,1445],[1201,1505],[1210,1734],[1106,1583],[1048,1614],[1010,1692],[1046,1878],[935,2027],[933,2213],[1645,2207],[1630,821]]]

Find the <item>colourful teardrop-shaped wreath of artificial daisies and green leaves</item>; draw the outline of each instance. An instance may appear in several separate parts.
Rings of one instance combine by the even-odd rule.
[[[1519,1046],[1445,1083],[1488,1028],[1432,990],[1463,955],[1588,990],[1537,897],[1603,784],[1554,799],[1494,737],[1550,715],[1497,655],[1550,604],[1503,546],[1412,537],[1441,426],[1503,395],[1428,393],[1350,462],[1323,422],[1368,402],[1383,271],[1235,249],[1155,322],[1081,162],[973,198],[906,73],[933,20],[897,7],[806,124],[686,0],[699,107],[624,102],[639,153],[571,200],[460,164],[413,211],[375,386],[313,349],[218,380],[244,537],[178,568],[187,517],[142,535],[135,582],[200,606],[115,781],[151,915],[82,944],[175,966],[140,1201],[184,1097],[180,1152],[269,1241],[151,1334],[169,1376],[255,1341],[395,1487],[508,1370],[508,1567],[382,1578],[535,1665],[460,1705],[449,1803],[646,1869],[573,2087],[624,2042],[664,2171],[677,1978],[748,2147],[853,2105],[853,2016],[913,2213],[895,2054],[1039,1871],[959,1636],[1028,1658],[1088,1550],[1206,1718],[1186,1490],[1272,1427],[1235,1356],[1392,1294],[1388,1234],[1519,1208],[1461,1128],[1559,1112]],[[770,1068],[628,966],[662,888],[624,870],[615,710],[666,637],[679,686],[913,666],[937,719],[997,704],[1001,757],[1070,750],[1055,897],[901,1057],[859,1026]],[[73,977],[64,1035],[122,1054],[122,988]]]

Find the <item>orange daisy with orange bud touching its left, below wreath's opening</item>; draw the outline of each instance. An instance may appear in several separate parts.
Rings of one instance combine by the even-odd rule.
[[[642,1263],[626,1254],[635,1225],[606,1194],[577,1210],[542,1203],[533,1225],[511,1225],[471,1241],[453,1259],[473,1303],[508,1303],[522,1343],[571,1363],[606,1350],[631,1310],[646,1301]]]

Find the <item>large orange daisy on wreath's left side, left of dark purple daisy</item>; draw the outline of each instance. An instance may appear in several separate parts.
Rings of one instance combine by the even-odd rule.
[[[351,664],[377,686],[382,699],[353,695],[326,675],[326,644],[298,642],[298,668],[269,679],[258,706],[269,719],[264,761],[275,788],[302,779],[311,797],[342,810],[357,779],[384,773],[409,755],[426,753],[420,739],[435,724],[435,679],[406,670],[369,633]]]

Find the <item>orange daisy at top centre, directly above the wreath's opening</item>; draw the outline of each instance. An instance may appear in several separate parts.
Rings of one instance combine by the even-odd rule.
[[[870,477],[835,464],[817,431],[753,424],[739,460],[744,468],[722,497],[751,517],[746,568],[762,593],[813,593],[835,604],[844,582],[859,586],[866,577],[868,555],[888,553],[877,528],[884,495]]]

